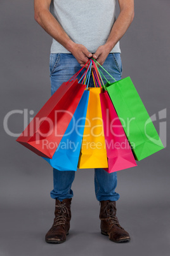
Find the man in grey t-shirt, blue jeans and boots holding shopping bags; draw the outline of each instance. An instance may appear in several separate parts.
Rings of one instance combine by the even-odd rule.
[[[119,0],[120,13],[115,20],[116,0],[34,0],[35,20],[53,38],[50,54],[51,94],[69,80],[93,57],[116,80],[121,79],[119,40],[134,17],[134,0]],[[50,8],[50,10],[49,10]],[[86,67],[87,68],[87,67]],[[106,75],[107,79],[110,78]],[[89,87],[94,86],[90,77]],[[70,228],[71,189],[75,171],[53,169],[55,219],[46,234],[47,243],[63,243]],[[100,201],[101,234],[116,243],[130,240],[116,215],[117,173],[95,169],[95,193]]]

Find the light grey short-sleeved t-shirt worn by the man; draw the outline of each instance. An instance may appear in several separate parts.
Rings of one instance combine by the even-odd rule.
[[[115,22],[116,0],[52,0],[50,11],[75,43],[95,53],[104,45]],[[121,53],[119,42],[110,51]],[[51,53],[70,53],[53,39]]]

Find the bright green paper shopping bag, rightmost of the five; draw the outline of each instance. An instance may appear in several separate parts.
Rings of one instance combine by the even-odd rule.
[[[107,82],[105,89],[121,120],[135,159],[144,159],[164,148],[131,78]]]

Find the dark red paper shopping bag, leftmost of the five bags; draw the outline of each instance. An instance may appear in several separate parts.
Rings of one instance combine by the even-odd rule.
[[[62,83],[16,141],[41,157],[52,158],[85,88],[77,79]]]

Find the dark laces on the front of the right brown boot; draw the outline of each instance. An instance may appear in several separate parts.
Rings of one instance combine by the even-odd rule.
[[[117,225],[118,227],[120,227],[121,229],[123,229],[121,227],[121,225],[119,224],[119,220],[117,219],[117,217],[115,217],[115,213],[116,213],[116,208],[114,206],[114,204],[112,202],[109,202],[107,204],[107,206],[105,207],[105,210],[106,213],[107,213],[107,221],[110,222],[110,224],[112,225],[111,228],[114,226],[114,225]]]

